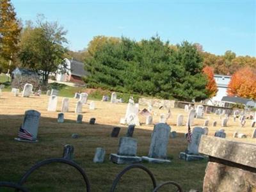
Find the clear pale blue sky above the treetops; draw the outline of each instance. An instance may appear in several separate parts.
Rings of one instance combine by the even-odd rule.
[[[26,1],[12,0],[17,17],[38,13],[68,30],[68,47],[78,51],[93,36],[127,36],[133,40],[158,34],[162,40],[203,45],[204,51],[256,56],[255,1]]]

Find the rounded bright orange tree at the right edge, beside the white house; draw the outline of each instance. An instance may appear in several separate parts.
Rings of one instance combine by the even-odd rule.
[[[239,96],[256,99],[256,69],[244,67],[231,77],[227,93],[229,96]]]

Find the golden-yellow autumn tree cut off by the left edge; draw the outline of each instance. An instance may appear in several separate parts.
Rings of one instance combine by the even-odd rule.
[[[19,50],[20,23],[10,0],[0,1],[0,68],[13,60]],[[8,65],[7,65],[8,66]]]

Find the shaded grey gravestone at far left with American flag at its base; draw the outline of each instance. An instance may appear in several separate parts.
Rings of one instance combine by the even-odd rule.
[[[36,142],[40,115],[41,113],[35,110],[26,111],[18,138],[15,138],[15,140]]]

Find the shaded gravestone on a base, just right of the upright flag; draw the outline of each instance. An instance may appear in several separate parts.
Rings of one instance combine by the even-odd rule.
[[[191,143],[188,144],[188,149],[185,152],[180,152],[180,159],[186,161],[195,161],[204,159],[198,153],[198,146],[201,136],[205,133],[202,127],[195,127],[192,131]]]

